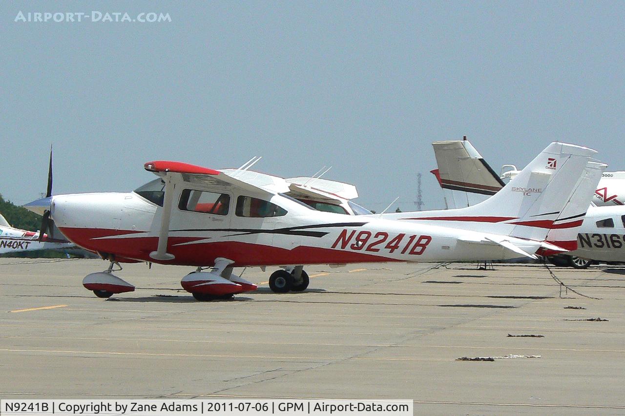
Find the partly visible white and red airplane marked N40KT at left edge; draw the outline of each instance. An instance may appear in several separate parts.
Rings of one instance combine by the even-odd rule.
[[[66,240],[53,239],[40,232],[21,230],[11,227],[6,219],[0,214],[0,254],[17,253],[34,250],[56,250],[75,247]]]

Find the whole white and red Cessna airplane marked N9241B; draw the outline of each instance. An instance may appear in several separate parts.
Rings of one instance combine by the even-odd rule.
[[[234,267],[510,259],[564,251],[546,242],[548,230],[535,223],[564,209],[594,154],[552,143],[488,201],[420,221],[321,212],[288,196],[285,180],[272,177],[259,186],[249,180],[254,172],[169,161],[146,163],[159,178],[134,192],[50,196],[26,207],[111,262],[106,272],[83,280],[99,297],[134,290],[112,274],[114,264],[146,261],[197,267],[181,284],[196,299],[209,300],[256,289],[233,274]],[[301,274],[300,267],[277,270],[269,285],[276,292],[304,290]]]

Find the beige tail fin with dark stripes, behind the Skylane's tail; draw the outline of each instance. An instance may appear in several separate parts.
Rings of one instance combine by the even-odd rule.
[[[436,175],[448,208],[470,207],[506,184],[467,140],[433,142]]]

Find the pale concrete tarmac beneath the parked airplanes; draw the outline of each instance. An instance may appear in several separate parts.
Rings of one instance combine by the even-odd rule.
[[[0,259],[0,398],[412,399],[415,414],[625,414],[625,268],[357,264],[272,270],[197,302],[190,267],[124,265],[135,292],[99,299],[101,260]],[[561,294],[561,296],[560,296]],[[583,309],[569,309],[569,307]],[[601,318],[607,321],[588,321]],[[542,335],[510,337],[508,335]],[[460,357],[539,356],[458,361]]]

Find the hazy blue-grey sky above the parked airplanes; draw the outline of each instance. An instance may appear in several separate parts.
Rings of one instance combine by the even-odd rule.
[[[39,197],[50,144],[55,194],[263,156],[285,177],[333,166],[378,211],[414,209],[417,172],[442,207],[430,143],[463,135],[496,171],[554,140],[625,169],[624,27],[622,1],[1,2],[0,193]]]

